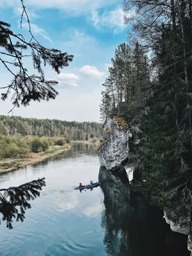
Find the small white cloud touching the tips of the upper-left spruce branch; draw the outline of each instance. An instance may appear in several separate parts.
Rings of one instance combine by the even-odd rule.
[[[76,74],[73,73],[61,73],[58,74],[55,79],[59,82],[59,85],[72,87],[77,87],[77,81],[79,81],[79,77],[77,77]]]

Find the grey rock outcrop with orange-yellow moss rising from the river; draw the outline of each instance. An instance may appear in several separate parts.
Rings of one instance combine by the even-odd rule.
[[[123,118],[109,117],[104,124],[104,142],[98,150],[100,166],[115,170],[129,153],[129,137],[132,134]]]

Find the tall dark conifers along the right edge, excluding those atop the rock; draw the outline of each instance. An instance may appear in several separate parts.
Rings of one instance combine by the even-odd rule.
[[[183,0],[166,4],[124,0],[125,15],[134,8],[138,17],[127,15],[127,22],[145,49],[152,50],[155,74],[150,97],[144,97],[142,122],[137,123],[141,143],[134,153],[140,175],[134,183],[170,220],[186,216],[192,221],[192,6]],[[140,55],[137,43],[134,54]],[[141,70],[144,66],[139,77]]]

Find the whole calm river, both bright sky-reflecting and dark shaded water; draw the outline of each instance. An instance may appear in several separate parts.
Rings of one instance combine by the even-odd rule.
[[[74,144],[43,163],[4,173],[0,186],[41,177],[46,187],[24,222],[13,221],[8,230],[2,221],[1,256],[189,255],[186,236],[162,228],[161,218],[129,192],[126,177],[99,170],[97,146]],[[101,188],[74,190],[98,177]]]

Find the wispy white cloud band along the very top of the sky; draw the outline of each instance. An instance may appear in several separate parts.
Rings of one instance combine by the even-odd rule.
[[[0,6],[19,6],[20,1],[15,0],[0,0]],[[118,0],[25,0],[25,5],[29,8],[54,8],[59,10],[64,10],[70,15],[82,14],[87,12],[92,12],[92,10],[98,10],[99,8],[104,8],[106,6],[111,6],[115,3],[118,3]]]

